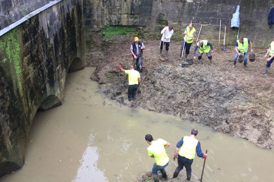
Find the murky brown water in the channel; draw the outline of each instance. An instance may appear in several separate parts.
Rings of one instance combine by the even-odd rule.
[[[166,152],[171,159],[176,142],[192,128],[198,129],[202,150],[209,153],[203,181],[273,181],[272,150],[171,115],[116,105],[96,93],[98,85],[89,79],[93,70],[69,74],[64,104],[37,112],[23,168],[0,182],[135,181],[153,165],[146,134],[169,141]],[[202,165],[203,159],[194,159],[193,181],[201,175]],[[169,176],[175,168],[171,159]],[[185,170],[179,177],[186,178]]]

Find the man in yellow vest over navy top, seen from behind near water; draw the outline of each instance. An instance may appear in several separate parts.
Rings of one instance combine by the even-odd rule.
[[[191,164],[195,158],[195,153],[198,157],[207,158],[207,154],[203,154],[201,150],[201,144],[196,139],[198,134],[197,129],[192,129],[190,132],[190,137],[185,136],[180,141],[178,141],[173,157],[178,156],[178,166],[174,171],[173,178],[177,178],[179,172],[186,168],[187,181],[191,178]]]

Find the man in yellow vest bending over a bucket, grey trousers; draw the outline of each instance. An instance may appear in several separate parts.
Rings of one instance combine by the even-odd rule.
[[[211,53],[213,53],[212,43],[210,43],[207,40],[199,41],[197,43],[197,45],[195,46],[194,51],[193,51],[193,58],[194,59],[196,59],[196,50],[198,48],[199,48],[199,54],[198,54],[199,63],[202,64],[202,60],[201,59],[202,59],[202,55],[205,52],[207,54],[207,57],[209,59],[210,64],[212,64],[212,55],[211,55]],[[210,51],[210,49],[211,49],[211,51]]]

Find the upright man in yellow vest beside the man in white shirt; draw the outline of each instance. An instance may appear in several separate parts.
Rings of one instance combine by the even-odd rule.
[[[189,50],[190,50],[190,46],[194,40],[194,35],[196,34],[196,30],[193,27],[193,23],[190,23],[188,27],[186,27],[186,29],[184,30],[184,38],[182,40],[181,43],[181,53],[180,53],[180,58],[182,57],[182,53],[183,53],[183,47],[186,47],[186,55],[185,58],[187,58],[187,55],[189,55]]]

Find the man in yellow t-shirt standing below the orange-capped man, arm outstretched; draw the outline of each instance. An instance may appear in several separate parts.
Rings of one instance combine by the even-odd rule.
[[[134,70],[134,66],[131,65],[130,70],[124,70],[121,65],[119,69],[128,75],[128,101],[136,100],[136,92],[138,85],[141,83],[140,73]]]

